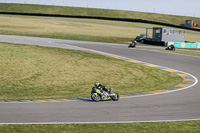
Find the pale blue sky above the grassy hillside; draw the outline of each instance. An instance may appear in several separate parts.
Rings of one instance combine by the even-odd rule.
[[[131,10],[200,18],[200,0],[0,0],[0,3]]]

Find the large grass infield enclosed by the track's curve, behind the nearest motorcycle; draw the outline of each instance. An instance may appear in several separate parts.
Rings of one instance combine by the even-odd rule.
[[[95,82],[116,88],[119,94],[131,94],[182,81],[158,69],[59,48],[0,43],[0,60],[0,100],[90,97]]]

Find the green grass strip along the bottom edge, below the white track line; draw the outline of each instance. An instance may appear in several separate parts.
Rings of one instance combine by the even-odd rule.
[[[200,121],[119,123],[0,125],[1,133],[198,133]]]

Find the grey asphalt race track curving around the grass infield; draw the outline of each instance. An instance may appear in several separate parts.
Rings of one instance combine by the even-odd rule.
[[[0,42],[92,49],[180,70],[200,79],[200,58],[128,49],[126,45],[0,35]],[[121,123],[200,120],[200,83],[172,93],[119,101],[0,103],[0,124]]]

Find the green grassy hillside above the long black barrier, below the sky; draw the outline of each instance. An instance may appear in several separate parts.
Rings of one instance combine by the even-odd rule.
[[[194,20],[200,23],[200,18],[164,15],[157,13],[144,13],[136,11],[94,9],[80,7],[62,7],[47,5],[29,5],[29,4],[6,4],[0,3],[0,11],[2,12],[20,12],[20,13],[45,13],[60,15],[80,15],[80,16],[98,16],[98,17],[114,17],[114,18],[133,18],[143,19],[156,22],[163,22],[175,25],[185,24],[185,20]]]

